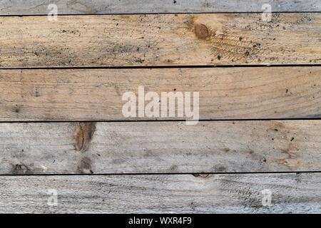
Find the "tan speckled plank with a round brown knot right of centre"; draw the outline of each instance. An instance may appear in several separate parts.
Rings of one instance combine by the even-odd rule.
[[[0,68],[321,63],[321,14],[0,17]]]

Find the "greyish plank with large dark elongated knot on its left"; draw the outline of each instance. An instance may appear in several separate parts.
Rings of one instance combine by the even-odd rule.
[[[321,170],[321,120],[1,123],[0,174]]]

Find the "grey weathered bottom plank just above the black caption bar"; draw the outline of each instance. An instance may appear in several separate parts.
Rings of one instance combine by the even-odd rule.
[[[0,177],[0,212],[321,212],[320,173],[204,177],[193,175]],[[49,195],[52,192],[58,193],[57,201],[54,201],[55,197]],[[267,194],[270,194],[271,201]],[[56,206],[50,206],[54,202]]]

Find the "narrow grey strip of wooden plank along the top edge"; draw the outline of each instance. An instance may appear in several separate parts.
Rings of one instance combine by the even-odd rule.
[[[56,4],[58,14],[151,14],[261,12],[263,4],[272,12],[321,11],[317,0],[1,0],[0,15],[46,15]]]

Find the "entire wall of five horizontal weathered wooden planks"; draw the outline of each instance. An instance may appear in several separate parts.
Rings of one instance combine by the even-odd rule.
[[[263,4],[2,0],[0,212],[320,213],[321,3]],[[125,118],[139,86],[200,121]]]

